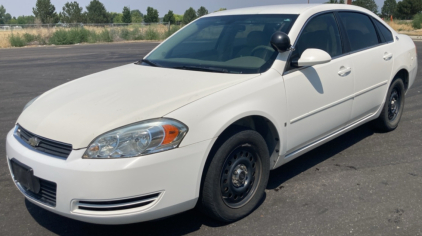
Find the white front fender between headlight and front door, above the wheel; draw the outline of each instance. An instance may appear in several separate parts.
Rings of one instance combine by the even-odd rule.
[[[279,153],[283,153],[286,144],[286,138],[283,136],[285,110],[283,77],[276,70],[270,69],[261,76],[197,100],[165,117],[177,119],[189,127],[189,132],[180,145],[184,147],[218,137],[228,126],[241,118],[262,116],[276,127],[280,139]],[[214,142],[210,143],[211,146],[213,144]],[[205,161],[202,161],[203,165]]]

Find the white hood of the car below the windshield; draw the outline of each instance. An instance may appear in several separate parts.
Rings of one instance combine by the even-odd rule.
[[[42,94],[17,122],[32,133],[79,149],[107,131],[162,117],[256,76],[131,64],[73,80]]]

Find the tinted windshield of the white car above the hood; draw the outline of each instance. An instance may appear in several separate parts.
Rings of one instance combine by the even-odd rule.
[[[231,15],[201,18],[178,31],[145,65],[223,73],[267,71],[278,52],[274,32],[289,33],[297,15]]]

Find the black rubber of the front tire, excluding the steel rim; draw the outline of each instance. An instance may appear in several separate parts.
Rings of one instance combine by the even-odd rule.
[[[228,207],[220,190],[220,177],[224,162],[230,153],[241,145],[250,145],[261,162],[261,176],[252,198],[240,208]],[[270,161],[268,148],[262,136],[253,130],[241,131],[227,139],[212,157],[211,164],[205,175],[202,191],[202,210],[211,217],[224,222],[239,220],[251,213],[262,199],[268,183]],[[255,183],[256,184],[256,183]]]

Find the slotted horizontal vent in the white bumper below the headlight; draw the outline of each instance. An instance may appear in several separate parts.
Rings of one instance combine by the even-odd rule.
[[[91,211],[91,212],[115,212],[119,210],[139,209],[146,207],[156,202],[161,193],[153,193],[140,197],[133,197],[121,200],[110,201],[87,201],[81,200],[76,204],[76,211]]]

